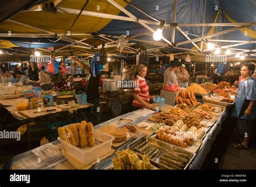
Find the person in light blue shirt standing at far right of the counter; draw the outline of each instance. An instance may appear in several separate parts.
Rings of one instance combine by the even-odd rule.
[[[224,89],[224,91],[237,93],[232,116],[237,118],[237,130],[243,137],[240,139],[240,143],[233,145],[237,149],[248,149],[248,141],[253,133],[253,120],[255,120],[256,115],[256,81],[252,78],[254,70],[254,64],[242,64],[240,70],[242,80],[238,90]]]

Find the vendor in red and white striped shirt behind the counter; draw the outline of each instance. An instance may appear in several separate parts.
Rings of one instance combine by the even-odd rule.
[[[153,105],[150,104],[150,99],[156,96],[149,95],[149,85],[145,81],[145,76],[147,74],[147,67],[143,64],[138,64],[137,71],[135,74],[135,87],[133,88],[133,110],[138,110],[143,107],[148,109],[153,109]]]

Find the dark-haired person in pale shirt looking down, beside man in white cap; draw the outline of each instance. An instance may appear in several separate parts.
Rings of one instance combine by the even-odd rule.
[[[178,85],[177,76],[174,73],[181,66],[181,62],[178,60],[172,60],[170,67],[165,70],[164,73],[164,85],[172,83]]]

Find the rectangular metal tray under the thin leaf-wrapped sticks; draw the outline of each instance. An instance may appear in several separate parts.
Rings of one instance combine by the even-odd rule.
[[[173,146],[170,143],[166,143],[164,141],[160,141],[156,138],[152,138],[150,136],[143,136],[142,138],[139,138],[138,140],[132,142],[130,145],[128,145],[128,148],[130,150],[132,150],[133,152],[137,153],[137,155],[139,155],[139,157],[142,157],[141,154],[139,154],[138,152],[136,152],[136,150],[133,150],[136,146],[138,146],[140,143],[143,142],[150,142],[152,145],[154,145],[159,151],[160,151],[160,156],[172,152],[172,150],[177,150],[178,152],[181,153],[185,153],[190,155],[190,160],[188,160],[186,166],[183,168],[184,170],[190,165],[191,161],[194,159],[194,157],[196,156],[196,153],[191,153],[188,152],[184,149],[181,149],[177,146]],[[160,163],[160,162],[156,162],[154,160],[149,159],[151,163],[153,163],[154,166],[160,168],[160,169],[170,169],[169,167],[165,166],[164,164]]]

